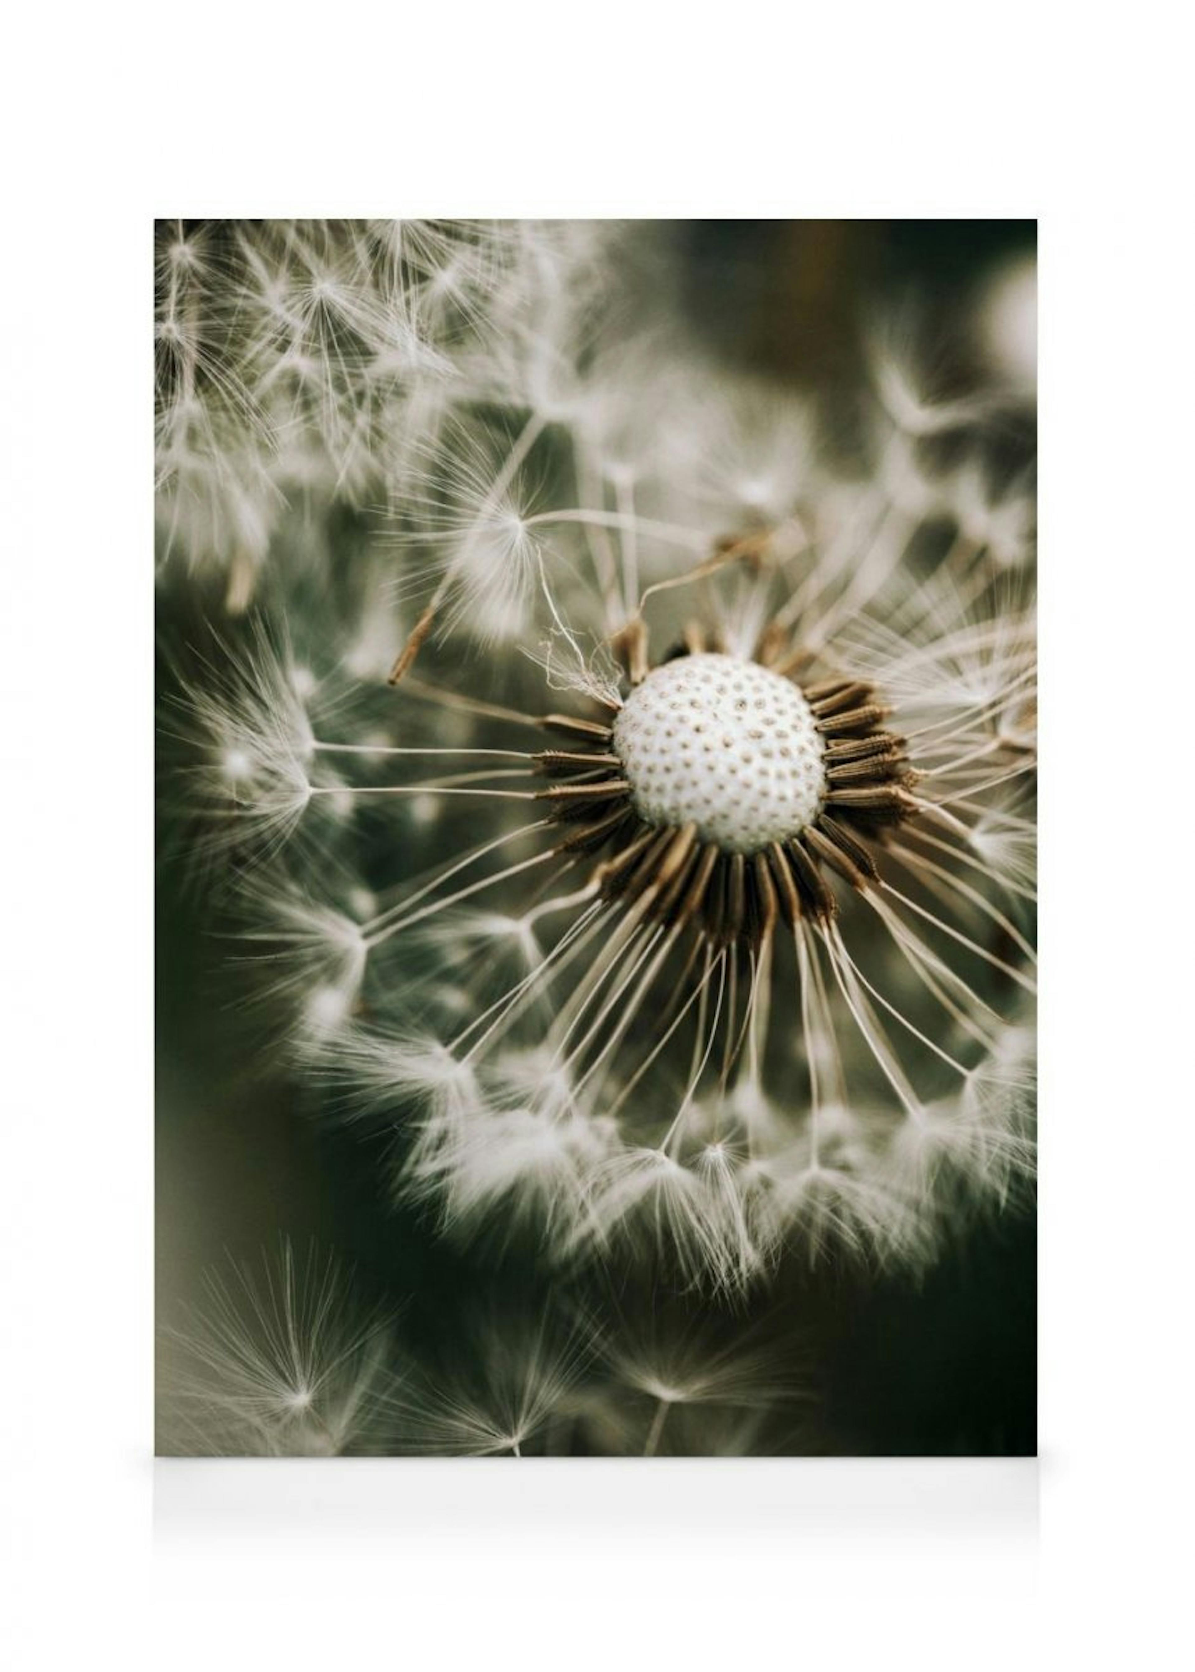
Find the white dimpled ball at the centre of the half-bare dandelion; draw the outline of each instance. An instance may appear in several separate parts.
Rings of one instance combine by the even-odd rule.
[[[645,824],[695,824],[727,853],[799,834],[826,796],[822,739],[797,687],[734,655],[653,669],[613,722]]]

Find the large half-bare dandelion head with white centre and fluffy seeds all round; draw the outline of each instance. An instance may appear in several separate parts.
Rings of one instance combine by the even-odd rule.
[[[404,318],[446,318],[408,294],[438,236],[356,237],[286,237],[338,411],[361,239]],[[879,339],[849,468],[752,383],[662,436],[667,348],[587,358],[602,263],[491,254],[388,466],[391,689],[323,701],[358,620],[314,684],[282,640],[189,694],[204,794],[303,874],[266,884],[299,1057],[456,1236],[725,1294],[789,1251],[923,1264],[1033,1160],[1031,520],[979,443],[996,398],[934,400]]]

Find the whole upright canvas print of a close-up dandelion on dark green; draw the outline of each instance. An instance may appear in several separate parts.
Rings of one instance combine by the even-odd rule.
[[[1033,222],[154,303],[159,1451],[1033,1453]]]

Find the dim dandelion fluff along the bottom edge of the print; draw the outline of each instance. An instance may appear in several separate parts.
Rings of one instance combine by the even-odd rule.
[[[174,1455],[700,1456],[787,1436],[811,1403],[789,1344],[712,1341],[650,1309],[617,1309],[613,1338],[583,1306],[531,1314],[501,1287],[416,1349],[333,1256],[287,1241],[204,1289],[160,1341]]]

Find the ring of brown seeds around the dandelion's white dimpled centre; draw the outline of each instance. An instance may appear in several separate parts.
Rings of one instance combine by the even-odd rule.
[[[707,642],[689,627],[665,660],[699,654]],[[647,665],[643,635],[628,635],[622,650],[628,679],[638,682]],[[824,869],[857,890],[877,881],[866,843],[882,841],[887,829],[921,811],[911,794],[918,774],[904,739],[882,729],[887,709],[871,684],[826,679],[802,694],[824,739],[826,796],[797,836],[752,854],[699,841],[695,824],[645,824],[630,804],[613,729],[568,714],[543,716],[547,731],[570,741],[570,747],[535,756],[536,769],[553,779],[538,799],[567,826],[557,851],[593,856],[593,879],[607,900],[655,921],[692,925],[717,945],[757,946],[777,918],[789,926],[801,918],[829,921],[837,901]]]

